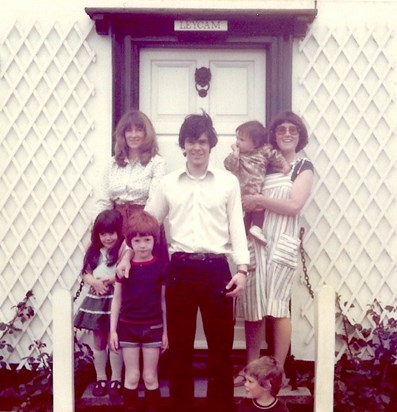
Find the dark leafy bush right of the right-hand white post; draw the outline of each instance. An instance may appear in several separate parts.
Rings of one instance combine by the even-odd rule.
[[[367,311],[373,326],[364,328],[351,322],[342,311],[340,296],[337,305],[343,329],[337,336],[345,342],[347,350],[335,367],[336,410],[396,410],[392,373],[397,360],[397,308],[382,307],[375,300]]]

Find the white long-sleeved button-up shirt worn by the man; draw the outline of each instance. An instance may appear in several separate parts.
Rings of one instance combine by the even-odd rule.
[[[249,263],[240,186],[225,170],[208,167],[201,178],[178,169],[164,176],[145,210],[160,223],[168,216],[170,253],[224,253]]]

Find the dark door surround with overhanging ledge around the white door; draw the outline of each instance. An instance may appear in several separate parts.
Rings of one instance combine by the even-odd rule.
[[[209,10],[86,8],[100,35],[112,40],[113,125],[139,108],[140,50],[159,48],[262,49],[266,53],[267,121],[291,109],[295,38],[306,35],[317,9]],[[175,21],[226,21],[226,31],[178,31]],[[193,79],[192,79],[193,81]]]

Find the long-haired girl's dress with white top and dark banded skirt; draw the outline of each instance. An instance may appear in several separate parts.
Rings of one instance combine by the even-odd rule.
[[[107,252],[101,249],[98,266],[93,271],[95,278],[114,278],[116,265],[106,266]],[[113,299],[114,286],[108,286],[106,295],[98,296],[92,287],[84,298],[74,319],[76,328],[88,330],[110,330],[110,307]]]

